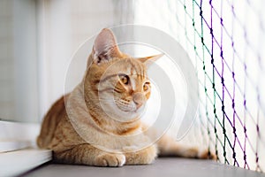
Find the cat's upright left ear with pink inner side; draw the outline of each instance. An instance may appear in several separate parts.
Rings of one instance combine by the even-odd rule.
[[[96,36],[92,55],[96,64],[108,62],[111,58],[121,56],[116,38],[110,29],[103,28],[100,34]]]

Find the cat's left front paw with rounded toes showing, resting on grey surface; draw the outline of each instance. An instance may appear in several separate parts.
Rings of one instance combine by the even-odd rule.
[[[118,167],[125,165],[125,155],[123,154],[102,154],[95,158],[96,166]]]

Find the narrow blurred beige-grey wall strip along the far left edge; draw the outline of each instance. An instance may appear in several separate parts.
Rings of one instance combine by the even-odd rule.
[[[2,118],[14,118],[14,59],[12,54],[12,5],[0,2],[0,112]]]

